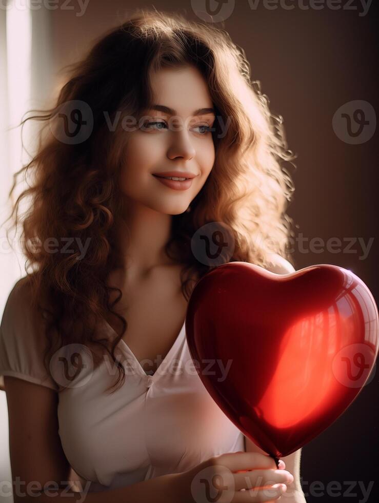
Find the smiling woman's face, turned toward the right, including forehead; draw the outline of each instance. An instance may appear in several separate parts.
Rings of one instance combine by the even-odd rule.
[[[210,129],[215,114],[198,111],[213,109],[213,103],[202,74],[192,66],[162,69],[154,74],[151,85],[154,105],[165,109],[145,110],[133,130],[126,132],[120,188],[134,202],[178,215],[186,211],[213,167],[215,150]],[[175,190],[153,175],[167,171],[189,172],[194,178],[191,183],[174,182],[183,188]]]

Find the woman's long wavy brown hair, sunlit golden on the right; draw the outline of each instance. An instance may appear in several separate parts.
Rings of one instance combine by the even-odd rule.
[[[191,202],[191,211],[172,216],[165,249],[168,257],[182,264],[183,295],[188,300],[196,278],[212,268],[191,251],[191,237],[210,222],[223,223],[233,236],[232,256],[225,261],[266,267],[272,253],[291,261],[287,245],[293,235],[292,219],[286,208],[294,185],[286,164],[294,166],[295,156],[287,149],[282,117],[270,113],[260,83],[251,81],[244,50],[225,30],[190,22],[181,14],[138,9],[99,38],[84,59],[68,66],[52,108],[31,110],[38,113],[21,122],[34,119],[43,127],[37,153],[13,176],[9,197],[22,172],[26,177],[31,171],[33,183],[18,196],[8,220],[13,218],[12,228],[17,227],[19,202],[29,197],[22,216],[22,249],[31,268],[29,272],[26,267],[25,279],[32,305],[44,314],[48,342],[44,365],[50,375],[49,360],[57,347],[92,341],[117,365],[118,379],[107,392],[124,383],[125,369],[114,350],[128,324],[112,309],[122,292],[107,286],[107,278],[121,265],[116,227],[123,215],[123,195],[117,178],[124,165],[127,133],[121,118],[114,130],[109,124],[117,113],[138,118],[149,108],[152,72],[186,65],[194,65],[204,76],[222,121],[216,120],[212,132],[216,155],[210,176]],[[93,117],[91,134],[77,143],[62,141],[62,110],[72,100],[88,105]],[[228,127],[222,129],[221,123]],[[70,253],[35,246],[59,237],[70,239]],[[81,257],[77,242],[88,239],[90,246]],[[112,291],[118,296],[111,303]],[[112,340],[95,340],[96,324],[105,315],[121,322],[121,331],[115,331]],[[101,360],[94,355],[95,367]]]

